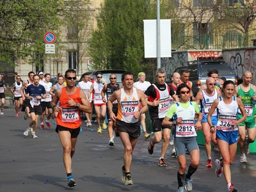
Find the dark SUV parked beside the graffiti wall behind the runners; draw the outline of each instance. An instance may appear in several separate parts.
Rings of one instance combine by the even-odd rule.
[[[233,68],[230,67],[223,58],[216,60],[199,59],[188,61],[188,65],[176,68],[175,72],[180,74],[180,71],[184,68],[188,69],[190,72],[189,81],[193,83],[192,91],[194,95],[196,95],[200,86],[205,84],[205,80],[208,77],[207,73],[212,69],[218,70],[220,77],[226,77],[227,80],[232,80],[237,85],[237,76]]]

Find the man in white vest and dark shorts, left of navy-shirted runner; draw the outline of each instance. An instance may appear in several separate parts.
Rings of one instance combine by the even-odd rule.
[[[21,108],[22,108],[22,104],[23,104],[23,100],[20,94],[20,88],[22,87],[22,83],[21,83],[21,78],[20,76],[16,76],[15,79],[17,81],[15,81],[11,87],[11,92],[13,93],[14,96],[14,102],[15,102],[15,117],[19,118],[19,115],[21,114]]]

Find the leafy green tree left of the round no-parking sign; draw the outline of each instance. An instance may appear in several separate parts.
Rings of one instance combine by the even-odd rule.
[[[35,55],[45,52],[44,33],[58,36],[62,5],[58,0],[0,1],[0,62],[13,67],[17,59],[36,64]]]

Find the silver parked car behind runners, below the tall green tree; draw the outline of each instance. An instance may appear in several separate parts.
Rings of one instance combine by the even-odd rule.
[[[102,72],[102,80],[107,82],[107,83],[110,83],[109,81],[109,76],[110,74],[114,73],[116,74],[116,77],[117,77],[117,83],[121,84],[122,83],[122,80],[121,80],[121,77],[122,77],[122,74],[124,74],[125,70],[116,70],[116,69],[109,69],[109,70],[94,70],[92,72],[87,72],[88,74],[93,74],[93,77],[95,79],[95,81],[97,81],[97,78],[95,76],[96,72]],[[81,76],[80,81],[83,81],[83,76]]]

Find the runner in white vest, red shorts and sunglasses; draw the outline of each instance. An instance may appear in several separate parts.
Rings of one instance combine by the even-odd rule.
[[[102,80],[102,72],[98,71],[96,72],[95,76],[97,77],[97,81],[95,81],[89,91],[88,97],[91,97],[91,94],[94,90],[94,108],[97,115],[97,124],[98,124],[98,133],[102,132],[102,129],[107,129],[107,125],[105,122],[106,117],[106,102],[102,100],[101,91],[104,87],[104,84],[107,84]],[[102,123],[102,126],[101,126]]]

